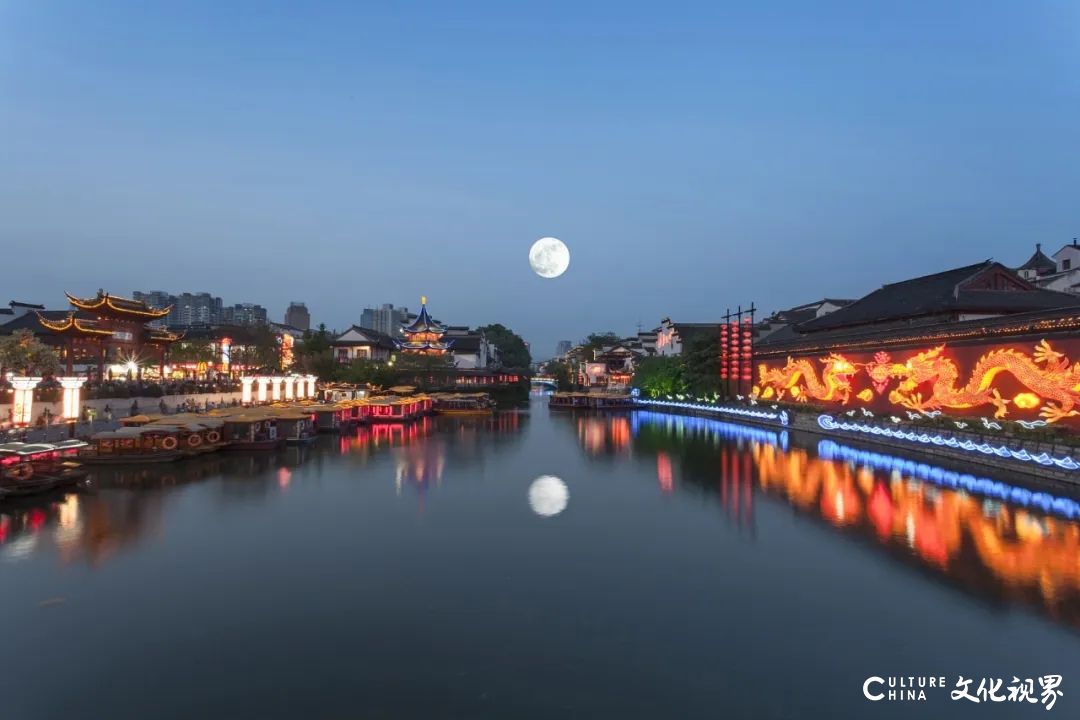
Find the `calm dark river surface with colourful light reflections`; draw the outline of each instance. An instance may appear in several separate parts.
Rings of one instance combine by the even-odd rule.
[[[0,718],[1077,717],[1080,527],[859,452],[538,399],[102,471],[0,507]]]

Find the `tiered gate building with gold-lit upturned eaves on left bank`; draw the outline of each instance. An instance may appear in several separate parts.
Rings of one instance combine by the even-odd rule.
[[[150,327],[150,323],[165,317],[170,308],[151,308],[139,300],[121,298],[98,290],[90,299],[67,295],[73,310],[66,313],[35,313],[43,339],[57,348],[67,373],[76,365],[96,367],[97,378],[110,375],[137,376],[141,368],[158,366],[164,376],[168,345],[180,335]]]

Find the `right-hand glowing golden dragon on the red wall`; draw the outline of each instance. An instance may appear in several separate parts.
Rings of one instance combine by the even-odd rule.
[[[996,408],[994,417],[1003,418],[1010,403],[1034,407],[1042,402],[1039,415],[1048,422],[1080,415],[1076,409],[1080,403],[1080,363],[1070,365],[1068,358],[1045,340],[1036,345],[1031,356],[1012,349],[986,353],[978,358],[967,384],[959,388],[960,372],[956,363],[942,355],[944,350],[945,347],[940,345],[908,359],[903,371],[895,372],[901,380],[889,393],[889,399],[920,412],[943,407],[961,409],[993,405]],[[1031,392],[1021,393],[1012,400],[1001,397],[991,386],[1001,372],[1009,372]],[[931,383],[931,392],[923,397],[916,389],[927,382]]]

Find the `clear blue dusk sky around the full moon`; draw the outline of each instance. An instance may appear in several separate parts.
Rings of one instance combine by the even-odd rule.
[[[0,0],[0,289],[426,294],[545,356],[1018,264],[1080,235],[1078,68],[1038,0]]]

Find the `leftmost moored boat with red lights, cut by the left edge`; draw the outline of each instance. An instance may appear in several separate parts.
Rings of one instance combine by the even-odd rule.
[[[49,443],[8,443],[0,446],[0,500],[50,492],[78,485],[86,471],[68,458],[81,440],[64,446]]]

